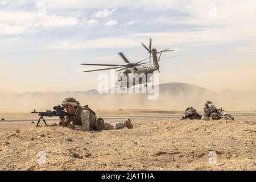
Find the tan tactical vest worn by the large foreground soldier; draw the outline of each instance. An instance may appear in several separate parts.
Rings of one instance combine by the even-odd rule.
[[[77,110],[76,110],[76,113],[75,114],[72,114],[72,115],[66,115],[66,119],[67,119],[67,122],[73,122],[73,125],[79,125],[79,126],[82,126],[82,121],[81,121],[81,114],[82,114],[82,111],[84,110],[87,110],[89,111],[90,113],[90,127],[91,128],[94,128],[95,127],[95,123],[96,123],[96,114],[94,113],[94,111],[92,109],[90,109],[88,107],[88,105],[82,107],[82,106],[77,106]]]

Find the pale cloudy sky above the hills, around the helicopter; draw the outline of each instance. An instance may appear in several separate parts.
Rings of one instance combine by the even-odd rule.
[[[164,53],[160,83],[256,90],[256,1],[0,0],[0,92],[97,88],[81,63],[123,64]],[[166,59],[171,56],[182,55]]]

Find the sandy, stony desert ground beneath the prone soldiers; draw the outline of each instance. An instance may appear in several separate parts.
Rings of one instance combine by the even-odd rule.
[[[3,117],[31,115],[0,114]],[[137,118],[132,119],[134,129],[89,132],[47,123],[50,126],[35,127],[36,120],[0,121],[0,169],[256,170],[256,115],[236,116],[234,121]],[[212,151],[216,163],[209,163]]]

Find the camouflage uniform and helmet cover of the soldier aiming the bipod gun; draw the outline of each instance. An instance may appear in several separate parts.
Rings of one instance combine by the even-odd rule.
[[[67,98],[66,101],[71,101],[75,103],[74,98]],[[68,102],[67,104],[63,104],[63,106],[71,105],[72,103]],[[96,123],[98,119],[94,113],[86,110],[86,107],[82,107],[79,105],[79,102],[76,101],[77,109],[75,114],[66,115],[65,122],[63,126],[67,126],[67,123],[73,122],[73,126],[75,130],[89,131],[89,130],[114,130],[114,129],[123,129],[127,127],[129,129],[133,128],[133,125],[130,122],[130,119],[126,119],[125,121],[115,122],[115,123],[105,123],[102,118],[102,126],[98,127]],[[73,104],[75,106],[76,104]]]

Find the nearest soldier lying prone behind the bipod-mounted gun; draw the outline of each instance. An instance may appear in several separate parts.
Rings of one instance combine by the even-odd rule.
[[[117,130],[127,127],[133,129],[133,125],[129,118],[125,121],[115,123],[105,123],[102,118],[97,118],[96,114],[88,105],[82,107],[75,98],[66,98],[62,105],[65,107],[68,115],[65,119],[60,120],[60,125],[75,130]]]

